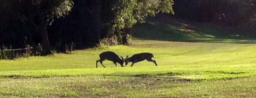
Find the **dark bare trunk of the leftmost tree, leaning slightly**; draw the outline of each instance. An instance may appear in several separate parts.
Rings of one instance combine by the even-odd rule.
[[[43,26],[43,27],[39,27],[39,28],[41,28],[39,30],[39,32],[40,32],[40,36],[42,38],[42,54],[41,55],[45,56],[45,55],[48,55],[48,54],[52,54],[46,27]]]

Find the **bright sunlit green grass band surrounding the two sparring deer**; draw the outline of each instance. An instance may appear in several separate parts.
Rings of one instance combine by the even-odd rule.
[[[73,54],[55,54],[46,57],[29,57],[14,61],[0,61],[1,76],[65,76],[102,75],[112,73],[179,72],[179,78],[218,79],[254,76],[256,73],[256,46],[254,44],[190,43],[135,40],[131,46],[102,46],[91,50],[78,50]],[[121,56],[151,52],[158,66],[141,61],[130,67],[118,67],[104,61],[107,68],[96,60],[99,54],[111,50]],[[243,72],[224,74],[223,72]]]

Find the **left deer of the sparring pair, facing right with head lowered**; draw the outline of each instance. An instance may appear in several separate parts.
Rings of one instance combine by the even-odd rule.
[[[105,51],[105,52],[102,52],[100,53],[100,60],[97,60],[96,61],[96,68],[98,68],[98,62],[100,62],[101,65],[102,62],[104,60],[110,60],[110,61],[113,61],[113,63],[116,65],[116,63],[119,63],[121,65],[121,67],[123,67],[123,62],[124,62],[124,57],[122,56],[119,56],[118,54],[112,52],[112,51]],[[103,65],[104,68],[106,68],[104,65]],[[116,65],[117,67],[117,65]]]

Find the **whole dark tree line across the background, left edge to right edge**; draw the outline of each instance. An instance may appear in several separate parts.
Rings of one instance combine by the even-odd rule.
[[[71,42],[75,49],[84,49],[113,36],[127,44],[127,29],[159,12],[255,28],[256,0],[0,0],[0,48],[40,43],[41,55],[47,55]]]

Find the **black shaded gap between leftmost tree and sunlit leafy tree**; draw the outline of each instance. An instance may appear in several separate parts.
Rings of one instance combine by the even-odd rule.
[[[93,2],[94,1],[94,2]],[[55,49],[74,42],[75,49],[84,49],[99,44],[101,32],[100,0],[74,0],[68,16],[55,19],[49,26],[49,39]]]

